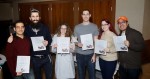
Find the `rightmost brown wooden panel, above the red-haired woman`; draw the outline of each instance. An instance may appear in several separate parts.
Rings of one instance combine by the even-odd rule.
[[[93,21],[101,27],[101,20],[108,19],[112,22],[112,11],[111,11],[111,2],[112,0],[100,0],[94,1],[94,10],[93,10]]]

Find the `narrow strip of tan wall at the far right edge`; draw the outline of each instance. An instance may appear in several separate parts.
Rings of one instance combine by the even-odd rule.
[[[150,0],[145,0],[143,37],[145,40],[150,39]]]

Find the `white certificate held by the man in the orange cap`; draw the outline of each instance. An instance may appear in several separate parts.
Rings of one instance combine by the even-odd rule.
[[[126,36],[114,36],[113,40],[117,51],[128,51],[128,47],[124,44]]]

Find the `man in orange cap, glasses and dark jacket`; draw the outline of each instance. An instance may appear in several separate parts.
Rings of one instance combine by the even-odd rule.
[[[120,51],[118,54],[120,79],[139,79],[144,39],[139,31],[129,27],[127,17],[121,16],[117,22],[121,30],[120,36],[126,36],[124,44],[128,47],[128,51]]]

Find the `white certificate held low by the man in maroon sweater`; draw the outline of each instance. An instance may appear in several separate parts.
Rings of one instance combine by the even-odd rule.
[[[16,72],[29,73],[30,56],[17,56]]]

